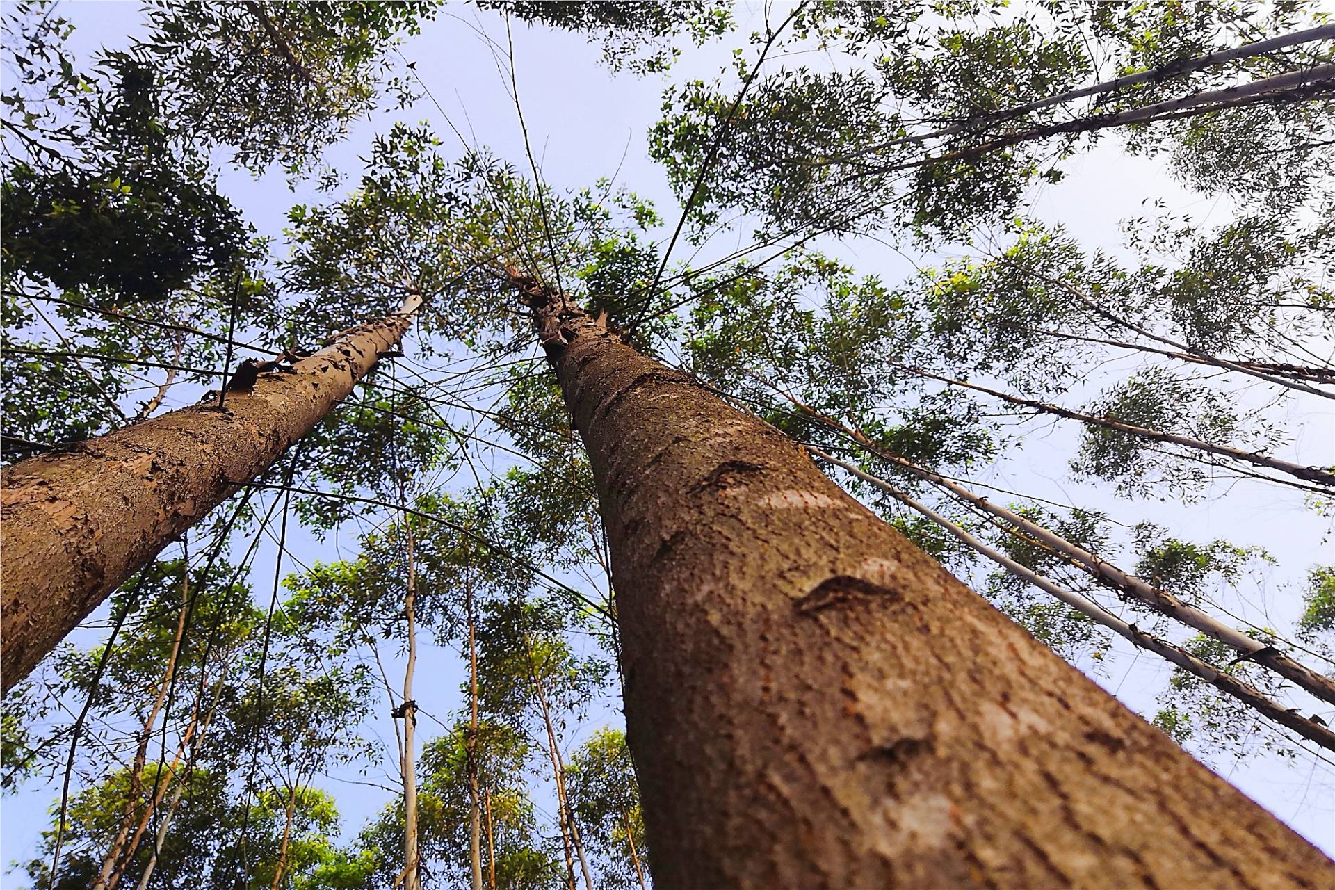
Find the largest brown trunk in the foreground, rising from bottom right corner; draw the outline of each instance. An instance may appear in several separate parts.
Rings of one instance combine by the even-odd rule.
[[[517,283],[607,527],[655,883],[1335,882],[800,446]]]

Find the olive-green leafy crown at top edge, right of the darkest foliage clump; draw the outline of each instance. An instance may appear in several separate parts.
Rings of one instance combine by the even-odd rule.
[[[413,99],[403,36],[435,16],[411,3],[154,3],[148,33],[128,51],[168,88],[171,119],[198,145],[231,148],[232,161],[291,175],[372,111],[386,88]]]

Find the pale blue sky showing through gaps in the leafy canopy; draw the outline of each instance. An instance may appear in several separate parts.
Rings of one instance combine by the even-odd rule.
[[[125,45],[140,27],[139,7],[131,1],[67,1],[61,5],[61,12],[76,25],[72,40],[75,53],[81,60],[87,60],[97,45]],[[741,33],[756,27],[746,24],[748,17],[756,15],[756,8],[738,8]],[[498,69],[494,47],[487,37],[505,44],[505,27],[497,15],[450,4],[434,23],[425,25],[419,36],[402,47],[405,57],[415,63],[434,101],[423,99],[398,115],[378,112],[371,120],[358,124],[344,143],[330,149],[327,159],[347,173],[346,184],[355,181],[362,168],[359,156],[367,152],[371,137],[387,129],[394,120],[430,121],[446,140],[442,151],[447,157],[451,152],[461,153],[463,149],[458,141],[451,141],[451,129],[458,128],[474,144],[487,145],[497,156],[526,169],[522,133],[514,103],[507,93],[509,71]],[[736,35],[724,44],[688,49],[668,77],[637,77],[627,72],[610,72],[601,61],[598,48],[577,35],[517,24],[515,79],[533,151],[546,181],[559,189],[577,189],[593,185],[601,177],[614,176],[618,184],[651,199],[670,227],[676,223],[678,204],[663,171],[647,157],[647,129],[658,119],[661,92],[669,79],[714,76],[718,67],[726,64],[732,45],[737,45]],[[1103,148],[1069,161],[1068,176],[1063,183],[1045,185],[1035,192],[1035,212],[1049,221],[1060,220],[1087,247],[1103,247],[1113,252],[1123,250],[1119,221],[1144,213],[1145,200],[1163,197],[1173,211],[1189,212],[1197,221],[1219,223],[1228,219],[1231,208],[1227,201],[1203,199],[1184,191],[1168,176],[1161,161],[1124,156],[1112,141],[1105,140]],[[223,176],[223,191],[260,234],[274,236],[282,234],[287,209],[292,204],[324,200],[310,185],[290,189],[278,172],[259,179],[248,173],[227,172]],[[714,250],[722,254],[729,247],[732,246],[724,244]],[[860,272],[878,274],[889,282],[913,272],[913,263],[908,258],[876,242],[825,243],[822,247],[853,263]],[[933,258],[913,259],[921,262]],[[411,350],[409,352],[411,356]],[[1326,347],[1326,352],[1330,352],[1330,347]],[[1131,364],[1124,363],[1124,367],[1129,370]],[[195,396],[198,394],[187,390],[174,391],[170,404],[184,404]],[[1330,463],[1335,419],[1327,407],[1311,404],[1312,402],[1318,400],[1295,400],[1287,418],[1287,428],[1294,434],[1295,443],[1287,452],[1282,451],[1280,456],[1296,456],[1304,463]],[[1052,427],[1041,435],[1027,436],[1021,448],[981,472],[977,480],[1105,510],[1123,522],[1151,519],[1189,540],[1226,538],[1239,544],[1263,546],[1275,556],[1278,567],[1262,586],[1232,594],[1252,606],[1266,606],[1282,618],[1291,619],[1296,614],[1298,591],[1294,584],[1307,568],[1316,562],[1332,560],[1331,547],[1326,540],[1327,527],[1303,508],[1299,496],[1282,487],[1240,483],[1226,498],[1189,506],[1119,500],[1104,488],[1077,484],[1069,478],[1065,464],[1073,452],[1075,436],[1076,432],[1068,427]],[[315,559],[336,559],[340,552],[351,554],[352,546],[355,540],[346,534],[318,542],[304,532],[296,532],[284,566],[298,570],[302,563],[308,564]],[[271,576],[275,556],[272,542],[266,542],[255,560],[258,591],[267,592],[270,582],[266,578]],[[1264,602],[1259,602],[1260,599]],[[419,658],[423,667],[418,681],[418,698],[427,715],[421,726],[422,734],[429,737],[439,729],[431,723],[433,719],[449,723],[447,714],[459,707],[462,699],[458,690],[465,674],[455,652],[429,647]],[[399,670],[399,662],[390,659],[387,667],[392,678]],[[1168,666],[1149,656],[1127,656],[1117,659],[1108,675],[1095,679],[1133,710],[1152,715],[1153,695],[1167,674]],[[602,703],[591,715],[589,727],[617,722],[619,718],[615,709],[617,702],[613,699]],[[382,715],[368,731],[379,734],[392,747],[392,729],[387,717]],[[1335,778],[1330,767],[1310,758],[1288,763],[1268,757],[1244,763],[1226,761],[1214,766],[1295,830],[1335,853]],[[386,781],[384,775],[367,778]],[[323,782],[338,799],[346,834],[354,834],[386,801],[383,793],[355,785],[356,781],[355,775],[342,775]],[[35,854],[39,831],[47,823],[45,811],[52,794],[51,787],[25,789],[0,803],[0,859],[4,863]],[[3,889],[20,886],[24,886],[24,881],[17,874],[0,877]]]

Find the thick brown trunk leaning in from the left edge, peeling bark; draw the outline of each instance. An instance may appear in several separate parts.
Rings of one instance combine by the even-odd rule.
[[[422,304],[343,331],[252,388],[164,414],[0,474],[0,685],[21,681],[125,578],[304,436]],[[254,370],[254,366],[251,366]]]

